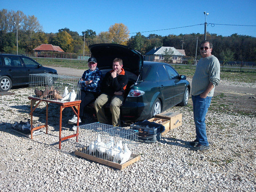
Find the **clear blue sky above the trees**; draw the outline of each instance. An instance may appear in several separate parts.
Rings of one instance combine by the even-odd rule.
[[[108,31],[115,23],[123,23],[130,37],[138,32],[146,37],[149,34],[203,34],[204,25],[199,24],[205,22],[203,12],[206,11],[209,13],[207,23],[213,23],[207,26],[209,33],[256,37],[256,0],[0,0],[2,9],[36,16],[45,33],[57,33],[67,27],[79,35],[87,29],[98,34]]]

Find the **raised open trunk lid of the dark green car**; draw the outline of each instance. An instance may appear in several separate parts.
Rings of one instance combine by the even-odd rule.
[[[143,67],[143,55],[138,51],[120,44],[90,45],[91,56],[97,60],[99,69],[112,69],[113,60],[121,58],[123,68],[139,76]]]

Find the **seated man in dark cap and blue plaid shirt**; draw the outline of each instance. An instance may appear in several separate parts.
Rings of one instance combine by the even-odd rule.
[[[81,103],[79,110],[79,123],[81,123],[81,118],[83,117],[84,107],[86,107],[90,102],[94,101],[101,89],[101,78],[102,73],[97,67],[97,60],[94,57],[90,57],[88,59],[88,67],[86,71],[84,71],[82,78],[79,79],[81,84]],[[68,120],[68,124],[76,124],[77,117],[74,115],[72,119]],[[76,128],[75,130],[76,131]]]

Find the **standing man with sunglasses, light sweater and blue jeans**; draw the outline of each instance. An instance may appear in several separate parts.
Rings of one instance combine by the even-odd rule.
[[[210,148],[206,136],[205,117],[214,94],[215,86],[219,84],[220,80],[219,60],[211,52],[211,42],[203,41],[200,46],[202,58],[196,65],[191,88],[196,125],[196,139],[190,142],[192,150],[203,151]]]

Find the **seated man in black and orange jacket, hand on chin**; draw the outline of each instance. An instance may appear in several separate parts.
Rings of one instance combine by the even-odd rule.
[[[94,108],[100,123],[109,124],[106,118],[103,105],[109,101],[112,113],[112,125],[120,126],[120,105],[124,101],[124,90],[128,83],[128,76],[125,74],[123,60],[116,58],[113,61],[113,70],[106,73],[102,82],[102,94],[94,102]]]

